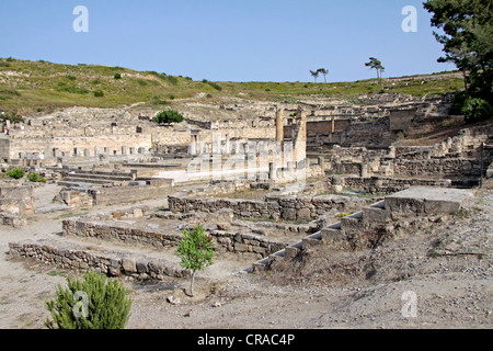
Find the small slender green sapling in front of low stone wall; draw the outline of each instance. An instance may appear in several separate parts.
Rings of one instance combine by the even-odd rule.
[[[202,226],[195,226],[191,231],[185,229],[182,235],[176,253],[182,259],[180,265],[192,270],[190,292],[194,296],[195,273],[213,264],[214,244],[213,238],[205,234]]]

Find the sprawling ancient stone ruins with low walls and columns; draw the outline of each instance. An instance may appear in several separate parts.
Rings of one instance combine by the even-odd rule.
[[[174,250],[182,230],[195,225],[214,238],[220,258],[245,262],[244,272],[282,269],[276,262],[320,246],[375,248],[467,206],[472,189],[492,177],[491,124],[458,127],[427,145],[398,143],[461,126],[462,116],[448,114],[450,101],[238,99],[207,106],[217,118],[191,103],[176,125],[133,109],[72,107],[26,118],[0,136],[3,168],[37,172],[47,183],[2,181],[1,225],[58,214],[62,229],[10,242],[10,254],[162,280],[190,275]],[[36,206],[34,192],[48,184],[55,196]]]

